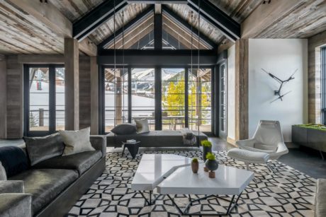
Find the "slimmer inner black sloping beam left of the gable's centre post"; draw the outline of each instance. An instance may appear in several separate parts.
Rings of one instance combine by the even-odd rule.
[[[123,34],[123,30],[128,32],[129,30],[132,30],[133,28],[136,28],[137,25],[139,25],[144,18],[147,18],[147,16],[154,15],[154,5],[147,8],[145,11],[142,11],[142,13],[138,14],[133,20],[130,20],[129,23],[125,24],[124,29],[120,28],[116,31],[116,38],[120,37]],[[98,49],[103,49],[104,47],[107,47],[111,44],[114,40],[114,34],[107,37],[103,42],[101,42],[99,45],[97,45]]]

